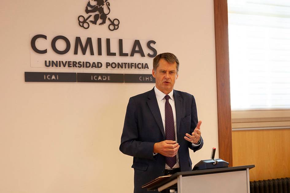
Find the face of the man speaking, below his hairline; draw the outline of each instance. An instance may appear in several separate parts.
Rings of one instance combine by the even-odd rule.
[[[158,63],[156,72],[152,70],[152,75],[156,79],[156,88],[164,94],[168,94],[172,91],[175,80],[178,78],[177,64],[176,62],[170,64],[163,58]]]

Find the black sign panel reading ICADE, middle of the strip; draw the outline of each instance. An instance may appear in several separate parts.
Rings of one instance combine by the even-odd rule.
[[[124,82],[124,74],[77,73],[78,82]]]

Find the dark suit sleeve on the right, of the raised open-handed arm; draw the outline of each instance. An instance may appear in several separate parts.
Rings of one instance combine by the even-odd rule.
[[[197,118],[196,103],[194,96],[192,96],[190,134],[194,131],[197,123],[198,118]],[[189,143],[189,148],[192,149],[193,152],[201,149],[202,147],[203,147],[203,138],[201,136],[200,136],[200,144],[198,146]]]

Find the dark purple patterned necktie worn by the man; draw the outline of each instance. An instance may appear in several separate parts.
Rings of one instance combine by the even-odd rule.
[[[169,104],[170,97],[166,95],[165,97],[165,138],[166,140],[175,141],[175,131],[174,131],[174,119],[171,105]],[[166,164],[172,168],[176,164],[176,156],[165,157]]]

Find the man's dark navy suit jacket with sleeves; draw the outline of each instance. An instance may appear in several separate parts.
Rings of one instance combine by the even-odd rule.
[[[177,142],[180,145],[179,164],[181,171],[190,171],[192,162],[189,149],[194,152],[203,146],[203,139],[198,147],[184,139],[191,134],[198,122],[195,99],[191,94],[174,90],[176,109]],[[143,184],[164,176],[165,157],[153,156],[154,143],[164,141],[164,127],[161,119],[154,88],[146,93],[131,97],[127,106],[120,151],[133,156],[134,193],[147,192],[141,189]]]

